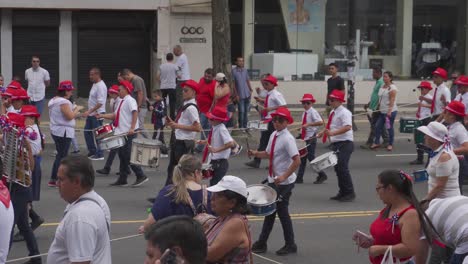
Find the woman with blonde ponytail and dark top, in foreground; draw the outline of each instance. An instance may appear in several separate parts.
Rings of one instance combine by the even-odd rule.
[[[156,221],[172,215],[188,215],[194,217],[204,210],[211,214],[211,195],[202,185],[202,164],[193,155],[183,155],[174,167],[173,184],[165,186],[156,197],[151,212],[139,232],[156,223]]]

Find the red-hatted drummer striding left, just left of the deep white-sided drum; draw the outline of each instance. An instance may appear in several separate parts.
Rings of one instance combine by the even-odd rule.
[[[148,177],[144,174],[140,166],[130,164],[130,155],[132,150],[132,142],[136,137],[135,131],[138,130],[138,105],[136,100],[131,96],[133,85],[129,81],[120,81],[119,84],[119,106],[114,113],[98,114],[97,118],[106,118],[114,120],[114,134],[126,135],[125,145],[118,149],[120,167],[119,178],[111,186],[127,186],[127,177],[129,174],[128,166],[136,175],[136,181],[131,185],[137,187],[148,181]]]

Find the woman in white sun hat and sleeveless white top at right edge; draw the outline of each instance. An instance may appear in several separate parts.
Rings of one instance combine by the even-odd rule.
[[[450,146],[447,128],[438,122],[418,127],[425,134],[425,145],[432,149],[429,154],[429,191],[421,201],[429,202],[434,198],[447,198],[460,195],[458,185],[458,159]]]

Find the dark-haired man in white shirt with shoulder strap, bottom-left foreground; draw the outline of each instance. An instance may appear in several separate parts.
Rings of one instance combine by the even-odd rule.
[[[94,190],[94,169],[85,156],[71,155],[57,173],[60,196],[68,203],[49,248],[47,263],[112,263],[111,215]]]

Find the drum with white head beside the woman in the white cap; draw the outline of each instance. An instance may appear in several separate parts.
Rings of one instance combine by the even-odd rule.
[[[247,203],[250,205],[253,215],[267,216],[276,211],[277,193],[275,189],[264,184],[247,186]]]

